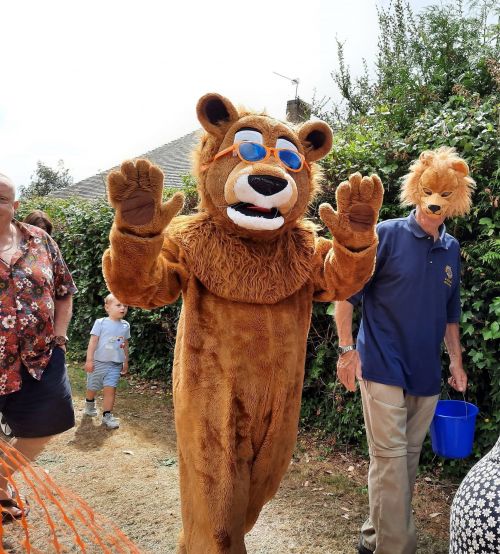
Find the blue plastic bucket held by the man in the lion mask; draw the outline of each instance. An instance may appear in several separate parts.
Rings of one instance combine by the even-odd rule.
[[[467,458],[472,452],[479,409],[463,400],[438,400],[431,423],[432,450],[444,458]]]

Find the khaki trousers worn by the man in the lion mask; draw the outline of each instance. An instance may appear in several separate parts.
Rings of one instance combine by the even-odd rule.
[[[373,381],[361,381],[360,389],[370,450],[370,516],[361,528],[361,544],[376,554],[414,554],[411,499],[439,395],[411,396]]]

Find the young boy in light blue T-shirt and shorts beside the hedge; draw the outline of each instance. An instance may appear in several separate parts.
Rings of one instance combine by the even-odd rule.
[[[88,375],[84,413],[91,417],[97,415],[95,394],[102,389],[102,423],[109,429],[116,429],[120,421],[113,416],[112,411],[120,375],[128,373],[130,325],[122,319],[127,313],[127,306],[112,294],[104,299],[104,309],[108,317],[97,319],[90,331],[85,362]]]

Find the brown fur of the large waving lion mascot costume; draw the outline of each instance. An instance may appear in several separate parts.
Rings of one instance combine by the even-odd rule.
[[[199,212],[172,219],[180,199],[161,204],[157,168],[125,162],[109,177],[116,216],[103,272],[109,289],[133,306],[162,306],[182,294],[173,373],[183,521],[178,552],[243,554],[245,533],[290,463],[312,301],[345,299],[370,277],[382,189],[375,177],[344,183],[342,210],[322,207],[337,240],[319,239],[304,219],[319,172],[288,173],[274,157],[255,164],[213,158],[238,130],[251,127],[267,146],[286,137],[312,164],[330,149],[329,128],[310,122],[294,130],[238,112],[214,94],[200,100],[198,117],[206,131],[194,164]],[[249,175],[288,183],[288,196],[276,200],[279,228],[243,227],[228,215],[231,199],[254,194]],[[258,201],[273,198],[274,192]],[[360,205],[368,214],[361,222]],[[252,225],[261,223],[252,217]]]

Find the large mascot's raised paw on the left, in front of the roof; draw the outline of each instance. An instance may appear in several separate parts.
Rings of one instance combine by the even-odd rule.
[[[108,177],[108,198],[119,226],[138,234],[157,234],[182,209],[184,197],[176,193],[162,205],[163,173],[148,160],[123,162]]]

